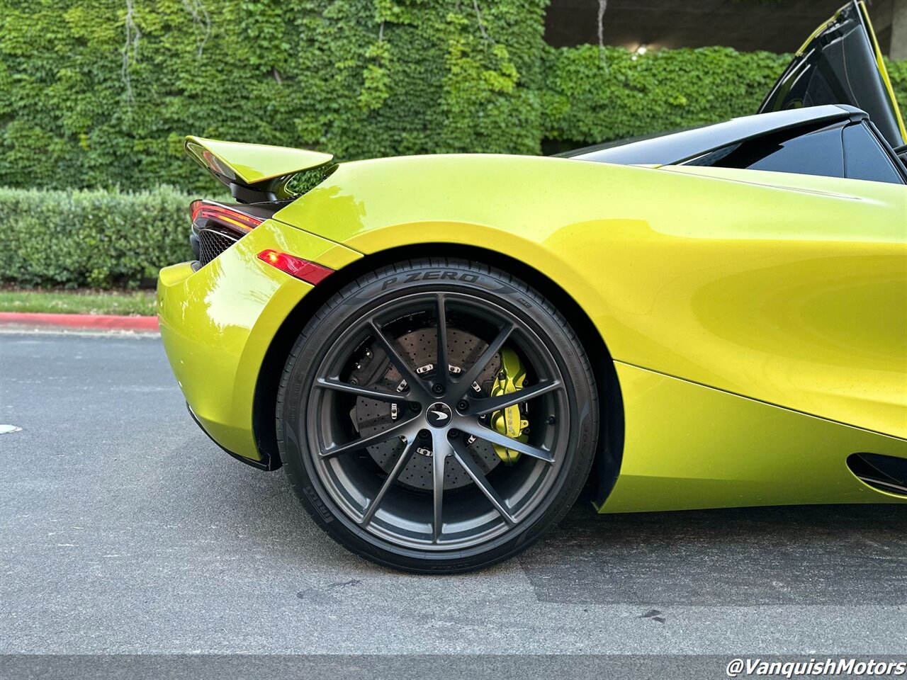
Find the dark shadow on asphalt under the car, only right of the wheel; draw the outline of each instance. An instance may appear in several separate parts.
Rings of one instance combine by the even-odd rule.
[[[521,562],[542,601],[892,605],[907,602],[907,506],[598,515],[580,502]]]

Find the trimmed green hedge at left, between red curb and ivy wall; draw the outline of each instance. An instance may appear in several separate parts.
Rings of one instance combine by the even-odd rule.
[[[19,286],[149,286],[191,259],[190,197],[169,187],[0,188],[0,281]]]

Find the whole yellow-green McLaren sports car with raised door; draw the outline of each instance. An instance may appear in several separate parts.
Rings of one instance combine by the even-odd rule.
[[[509,558],[587,483],[905,502],[905,137],[852,3],[758,114],[560,158],[189,138],[237,202],[193,203],[161,337],[211,439],[395,568]]]

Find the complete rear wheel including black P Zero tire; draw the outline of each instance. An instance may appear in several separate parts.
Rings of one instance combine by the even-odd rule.
[[[419,328],[430,328],[424,324],[431,318],[432,296],[437,296],[440,311],[436,312],[434,336],[428,332],[430,337],[425,339]],[[390,320],[385,322],[385,318]],[[510,409],[507,413],[517,413],[520,419],[525,416],[521,422],[529,433],[522,435],[524,443],[512,444],[522,447],[517,460],[500,464],[488,451],[505,458],[500,453],[504,444],[495,446],[483,437],[500,440],[506,436],[500,429],[506,427],[500,424],[504,412],[473,415],[494,403],[482,401],[490,390],[475,386],[489,369],[478,366],[473,371],[465,361],[457,367],[450,358],[454,349],[466,352],[469,348],[473,355],[491,356],[492,380],[502,379],[504,373],[493,367],[503,361],[502,350],[489,346],[497,336],[488,339],[498,327],[506,339],[496,346],[512,346],[512,355],[522,357],[520,365],[531,381],[526,394],[534,390],[519,406],[521,411],[514,412],[513,404],[506,407]],[[413,337],[423,338],[424,347],[415,348],[412,342],[402,345]],[[418,353],[434,356],[432,337],[439,359],[434,369],[426,369],[431,364],[424,364],[422,374],[417,375],[414,369],[418,366],[413,364],[419,361]],[[466,346],[467,340],[474,346],[450,345]],[[353,349],[346,350],[347,346]],[[344,358],[347,352],[349,356]],[[354,375],[351,371],[366,370],[361,368],[359,356],[375,361],[383,383],[366,385],[344,377]],[[473,359],[474,364],[481,361]],[[400,362],[407,365],[400,366]],[[448,364],[448,371],[441,370],[443,363]],[[476,373],[479,371],[483,373]],[[456,397],[455,393],[466,389],[460,380],[473,374],[478,376],[469,388],[474,392]],[[396,392],[382,386],[393,386],[407,375],[412,380],[401,382]],[[424,382],[416,384],[416,379]],[[342,389],[337,384],[343,384]],[[382,394],[347,393],[353,384]],[[489,384],[487,379],[484,384]],[[437,390],[444,390],[444,399],[459,401],[446,408],[440,401],[425,406],[426,399],[442,399],[436,396]],[[427,397],[419,396],[423,393]],[[413,401],[400,401],[401,394]],[[499,391],[497,403],[510,398],[508,394],[520,392]],[[371,436],[363,433],[369,432],[364,423],[372,421],[360,418],[366,409],[361,404],[382,404],[382,395],[399,404],[375,406],[375,413],[380,411],[385,420],[399,417],[400,422],[391,420],[383,429],[382,425],[375,427],[377,432],[393,429],[394,436],[368,448],[356,448],[356,441]],[[390,415],[385,414],[385,406]],[[439,419],[448,419],[449,427],[443,429],[436,423]],[[405,261],[348,284],[317,311],[299,335],[278,390],[280,456],[293,491],[318,526],[357,555],[387,567],[422,573],[488,567],[538,540],[579,496],[595,456],[599,422],[590,362],[566,319],[521,280],[460,259]],[[499,423],[498,434],[488,423]],[[357,438],[350,434],[349,441],[344,441],[344,428],[356,432]],[[428,438],[418,439],[426,437],[425,432]],[[423,441],[431,450],[417,446]],[[400,452],[387,453],[383,461],[384,449],[375,452],[380,447]],[[504,451],[515,456],[510,448]],[[429,481],[415,474],[425,466],[431,466]],[[403,473],[411,467],[414,472],[403,481]],[[486,467],[490,469],[485,471]],[[391,477],[394,481],[389,481]],[[423,489],[426,484],[432,485],[431,491]],[[495,484],[509,495],[495,491]],[[365,499],[361,507],[357,499]],[[482,500],[492,510],[483,509]],[[382,503],[386,511],[380,507]],[[448,527],[449,535],[445,533]]]

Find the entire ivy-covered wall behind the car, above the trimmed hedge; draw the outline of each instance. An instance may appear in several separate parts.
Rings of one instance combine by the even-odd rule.
[[[546,4],[0,0],[0,185],[213,189],[186,134],[339,159],[539,153],[754,112],[787,61],[555,50]],[[907,102],[907,65],[892,77]]]

